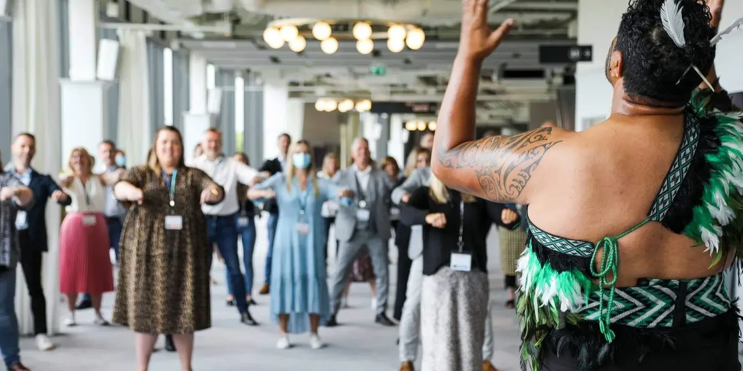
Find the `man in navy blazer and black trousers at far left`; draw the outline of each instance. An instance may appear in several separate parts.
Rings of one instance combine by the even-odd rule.
[[[21,247],[20,263],[31,297],[36,346],[40,350],[50,350],[54,345],[46,335],[46,300],[42,288],[42,255],[48,250],[46,205],[49,198],[62,206],[69,205],[71,199],[48,174],[39,174],[31,168],[31,160],[36,154],[36,138],[33,134],[16,136],[11,150],[13,166],[7,171],[33,191],[33,206],[18,212],[16,229]]]

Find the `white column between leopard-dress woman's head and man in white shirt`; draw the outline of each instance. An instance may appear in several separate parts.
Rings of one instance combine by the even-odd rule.
[[[184,114],[184,151],[186,163],[193,159],[193,149],[201,142],[204,131],[212,124],[207,113],[207,59],[197,53],[190,54],[188,113]]]

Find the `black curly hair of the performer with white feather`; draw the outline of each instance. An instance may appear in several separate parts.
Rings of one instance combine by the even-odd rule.
[[[715,30],[710,26],[712,16],[706,4],[676,0],[686,24],[686,45],[678,47],[663,30],[663,1],[630,0],[614,50],[622,52],[624,91],[630,99],[684,105],[702,82],[698,73],[687,68],[695,65],[705,75],[712,68],[715,49],[710,39]]]

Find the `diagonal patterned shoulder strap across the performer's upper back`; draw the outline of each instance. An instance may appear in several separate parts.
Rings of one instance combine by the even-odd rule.
[[[693,115],[686,115],[687,128],[684,130],[684,139],[678,147],[678,153],[673,159],[671,168],[663,179],[663,185],[655,196],[652,207],[648,213],[650,220],[659,222],[666,216],[666,212],[671,207],[674,197],[681,187],[681,182],[689,171],[689,167],[696,153],[697,143],[699,142],[699,122]]]

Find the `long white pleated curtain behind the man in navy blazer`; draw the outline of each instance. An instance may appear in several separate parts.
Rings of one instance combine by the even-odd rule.
[[[36,134],[33,167],[56,174],[62,165],[59,128],[59,9],[57,1],[14,1],[13,7],[13,133]],[[9,160],[10,156],[4,156]],[[46,212],[48,249],[42,268],[50,334],[59,332],[59,206]],[[21,269],[16,285],[19,330],[33,334],[30,298]]]

